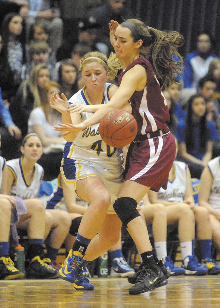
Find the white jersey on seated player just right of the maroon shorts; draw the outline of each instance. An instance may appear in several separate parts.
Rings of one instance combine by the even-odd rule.
[[[160,188],[158,199],[162,201],[182,202],[186,193],[186,168],[182,161],[174,161],[174,178],[168,180],[167,189]]]

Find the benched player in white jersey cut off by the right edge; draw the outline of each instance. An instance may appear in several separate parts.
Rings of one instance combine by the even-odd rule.
[[[210,160],[202,172],[198,202],[210,213],[212,238],[220,249],[220,156]]]

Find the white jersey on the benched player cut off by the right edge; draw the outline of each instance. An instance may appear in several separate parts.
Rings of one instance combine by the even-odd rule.
[[[207,164],[213,179],[209,204],[217,211],[220,211],[220,156],[210,160]]]

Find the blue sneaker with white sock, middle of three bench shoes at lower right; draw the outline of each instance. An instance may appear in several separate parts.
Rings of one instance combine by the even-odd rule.
[[[194,256],[186,257],[182,262],[182,267],[185,269],[185,275],[206,275],[208,269],[205,264],[198,263],[198,259]]]

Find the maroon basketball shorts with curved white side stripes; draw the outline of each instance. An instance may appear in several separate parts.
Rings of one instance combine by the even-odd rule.
[[[133,180],[156,192],[161,187],[166,189],[175,153],[176,145],[171,133],[132,142],[126,159],[125,180]]]

